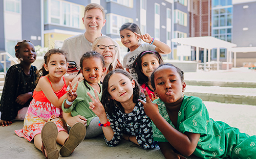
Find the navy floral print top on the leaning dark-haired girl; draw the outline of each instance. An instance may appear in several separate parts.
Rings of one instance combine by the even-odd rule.
[[[143,100],[144,98],[142,98]],[[114,114],[108,114],[107,117],[114,131],[111,141],[105,139],[109,146],[116,146],[123,134],[136,136],[138,144],[144,149],[155,147],[153,143],[153,132],[151,119],[145,114],[143,105],[137,101],[131,113],[122,112],[118,105],[115,106]]]

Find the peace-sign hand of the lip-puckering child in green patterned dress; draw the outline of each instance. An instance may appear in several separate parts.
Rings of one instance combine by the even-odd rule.
[[[145,89],[143,89],[143,91],[146,96],[146,101],[143,101],[141,99],[138,99],[138,101],[140,101],[143,104],[146,115],[150,118],[153,118],[156,114],[159,114],[158,105],[154,104],[151,101],[150,96],[148,96],[148,93]]]

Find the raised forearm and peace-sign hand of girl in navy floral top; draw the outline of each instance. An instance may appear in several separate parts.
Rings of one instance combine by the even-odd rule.
[[[89,108],[99,117],[101,124],[107,123],[109,120],[106,117],[105,109],[99,100],[97,91],[94,90],[95,98],[90,94],[90,92],[88,92],[87,94],[93,101],[93,102],[89,102],[90,104]],[[102,130],[106,140],[110,141],[113,139],[114,131],[110,126],[106,126],[106,127],[102,126]]]

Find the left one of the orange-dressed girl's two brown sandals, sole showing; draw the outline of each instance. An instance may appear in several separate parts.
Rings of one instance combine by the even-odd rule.
[[[59,157],[59,152],[56,144],[57,136],[58,136],[58,128],[56,124],[52,121],[48,121],[44,125],[44,127],[42,127],[42,131],[41,131],[41,139],[42,139],[41,149],[42,149],[42,154],[44,154],[46,158],[57,159]],[[45,154],[45,150],[47,154]]]

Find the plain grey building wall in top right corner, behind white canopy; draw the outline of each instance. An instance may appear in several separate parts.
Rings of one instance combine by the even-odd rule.
[[[233,43],[237,47],[256,46],[256,1],[233,3]],[[255,67],[255,52],[237,52],[237,67]]]

